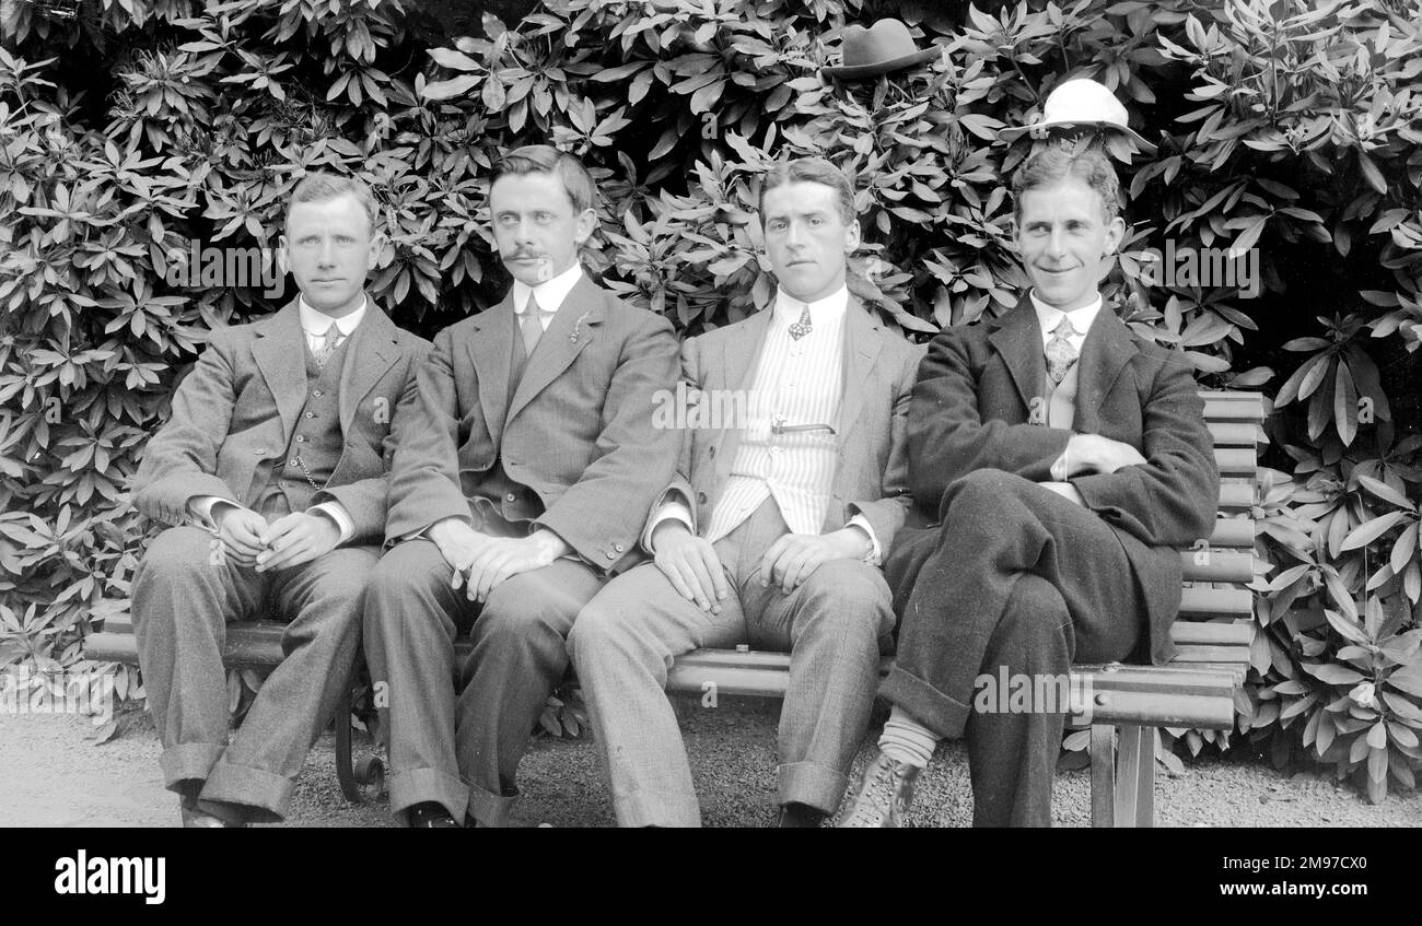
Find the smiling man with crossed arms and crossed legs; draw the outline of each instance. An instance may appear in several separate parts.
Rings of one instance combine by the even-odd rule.
[[[899,825],[934,744],[958,736],[975,825],[1049,825],[1066,704],[988,710],[997,699],[974,689],[1065,690],[1076,659],[1167,660],[1175,547],[1214,517],[1189,361],[1130,334],[1096,290],[1125,232],[1115,170],[1094,149],[1051,148],[1012,192],[1032,290],[997,321],[940,334],[919,371],[910,518],[929,527],[906,527],[884,567],[902,615],[880,687],[893,714],[840,825]]]

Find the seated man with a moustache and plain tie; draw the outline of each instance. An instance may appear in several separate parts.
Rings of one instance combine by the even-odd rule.
[[[677,464],[677,435],[651,423],[677,337],[579,266],[594,196],[572,155],[505,156],[489,213],[513,288],[435,338],[419,426],[395,454],[394,547],[365,638],[388,704],[391,811],[415,827],[515,819],[515,773],[567,670],[573,618],[636,562]],[[456,710],[454,641],[471,621]]]

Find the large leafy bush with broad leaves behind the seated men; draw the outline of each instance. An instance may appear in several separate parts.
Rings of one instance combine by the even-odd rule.
[[[931,14],[930,67],[855,84],[819,67],[848,21],[880,13],[862,0],[547,0],[448,47],[400,0],[85,0],[74,20],[7,6],[0,665],[68,665],[127,608],[144,525],[122,486],[171,371],[213,325],[273,308],[256,288],[166,283],[168,254],[274,244],[303,170],[377,187],[390,247],[371,290],[429,334],[505,288],[489,166],[550,139],[600,180],[589,264],[694,334],[769,301],[758,178],[825,153],[857,176],[852,287],[917,335],[1015,301],[1001,178],[1031,141],[995,131],[1091,75],[1160,141],[1135,165],[1113,152],[1133,224],[1109,295],[1203,385],[1277,405],[1241,731],[1280,761],[1358,773],[1374,798],[1388,775],[1412,787],[1422,33],[1396,6],[987,0]],[[1167,243],[1257,249],[1257,297],[1160,281],[1149,249]]]

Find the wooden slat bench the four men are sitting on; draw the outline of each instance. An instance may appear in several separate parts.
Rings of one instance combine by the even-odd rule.
[[[1149,827],[1155,822],[1155,751],[1162,727],[1229,730],[1243,699],[1253,641],[1254,481],[1263,398],[1253,392],[1202,392],[1204,418],[1220,467],[1220,517],[1207,547],[1180,551],[1185,591],[1180,619],[1170,628],[1176,658],[1165,666],[1082,665],[1072,668],[1074,694],[1092,697],[1091,804],[1096,827]],[[270,670],[282,660],[282,629],[273,622],[229,623],[223,662],[229,668]],[[459,659],[468,641],[456,643]],[[95,662],[138,665],[132,623],[109,618],[91,633],[84,655]],[[886,660],[887,666],[887,660]],[[745,648],[698,649],[675,660],[667,689],[681,694],[784,697],[789,655]],[[1088,685],[1089,680],[1089,685]],[[1072,704],[1082,714],[1086,704]],[[336,716],[350,716],[350,694]],[[347,800],[361,787],[378,790],[377,757],[351,761],[351,729],[336,724],[336,770]]]

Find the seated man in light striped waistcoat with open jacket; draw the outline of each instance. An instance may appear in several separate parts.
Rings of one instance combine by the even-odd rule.
[[[845,287],[859,223],[832,163],[772,169],[761,216],[775,304],[683,347],[677,395],[698,406],[668,422],[685,423],[683,463],[648,521],[656,564],[613,579],[569,636],[624,827],[700,824],[667,668],[737,643],[792,653],[781,825],[818,825],[845,794],[893,629],[879,562],[909,507],[921,349]]]

